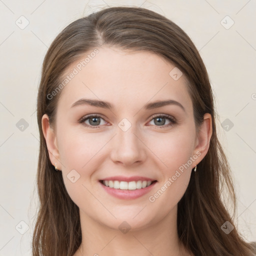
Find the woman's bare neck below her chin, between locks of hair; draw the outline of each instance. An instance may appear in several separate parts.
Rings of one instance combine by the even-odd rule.
[[[177,208],[173,208],[161,221],[136,230],[120,231],[110,228],[85,215],[80,210],[82,242],[75,256],[179,256],[191,255],[179,243],[176,226]],[[124,224],[123,224],[124,225]]]

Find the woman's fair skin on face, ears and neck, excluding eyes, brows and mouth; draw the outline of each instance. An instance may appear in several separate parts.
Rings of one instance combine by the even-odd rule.
[[[174,65],[162,57],[109,46],[98,49],[99,53],[62,89],[55,129],[49,126],[48,116],[42,116],[51,163],[62,170],[66,190],[79,207],[82,244],[74,255],[192,255],[178,244],[177,203],[192,168],[208,150],[211,116],[204,115],[196,134],[186,77],[183,74],[174,80],[169,75]],[[71,107],[80,98],[109,101],[113,109]],[[185,111],[174,104],[143,109],[148,102],[164,99],[178,101]],[[101,114],[98,128],[78,122],[87,114]],[[155,114],[168,114],[177,122],[167,126],[171,121],[164,119],[158,126],[157,118],[152,117]],[[131,124],[126,131],[118,126],[124,117]],[[93,127],[89,119],[84,122]],[[150,202],[148,197],[196,152],[197,159]],[[67,178],[72,169],[80,175],[74,183]],[[114,175],[145,176],[157,183],[141,197],[119,199],[106,193],[98,181]],[[118,229],[123,221],[131,227],[127,233]]]

